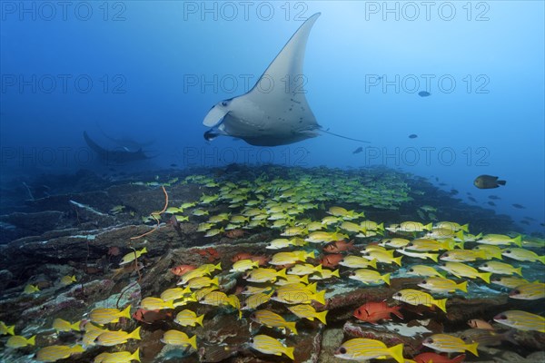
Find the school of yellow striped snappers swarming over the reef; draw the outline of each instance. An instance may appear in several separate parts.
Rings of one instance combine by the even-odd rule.
[[[175,329],[165,331],[161,341],[193,351],[199,347],[199,337],[188,333],[186,327],[205,325],[210,309],[221,309],[224,313],[236,314],[238,319],[279,329],[284,335],[297,335],[299,319],[316,319],[326,324],[325,292],[332,286],[332,280],[342,280],[353,289],[390,284],[391,273],[384,268],[391,270],[391,266],[399,270],[400,276],[422,277],[414,289],[393,293],[391,302],[395,304],[436,307],[446,312],[449,298],[442,298],[445,293],[467,293],[468,284],[483,282],[510,289],[510,299],[545,298],[545,284],[525,280],[524,269],[517,266],[524,262],[542,268],[545,256],[525,247],[521,236],[473,235],[468,224],[451,221],[428,224],[403,221],[386,226],[379,221],[368,221],[364,213],[366,207],[396,209],[401,202],[409,201],[407,185],[401,180],[379,182],[363,180],[363,176],[343,178],[342,175],[345,174],[339,172],[336,179],[308,175],[270,179],[263,174],[253,181],[221,183],[204,175],[187,177],[182,183],[197,183],[204,191],[213,192],[203,193],[198,201],[170,206],[166,216],[198,223],[199,233],[211,242],[214,236],[220,238],[223,231],[270,228],[276,231],[277,238],[269,241],[266,265],[244,258],[231,266],[221,263],[195,266],[183,273],[176,285],[165,289],[160,296],[146,296],[138,307],[92,309],[76,322],[54,319],[55,334],[81,331],[81,343],[40,348],[35,352],[35,359],[54,362],[102,346],[112,347],[111,351],[97,354],[94,363],[140,361],[139,348],[123,350],[128,340],[142,339],[140,323],[134,320],[134,329],[130,331],[115,329],[115,323],[132,319],[131,313],[138,308],[171,310]],[[359,205],[359,211],[343,207],[347,205]],[[208,207],[211,206],[225,206],[229,211],[210,215]],[[119,207],[112,212],[123,211]],[[321,219],[309,217],[320,211]],[[319,263],[323,247],[335,246],[339,240],[346,243],[355,240],[350,249],[342,250],[344,256],[338,268],[341,270],[323,267]],[[120,265],[134,262],[148,250],[153,250],[153,245],[126,254]],[[428,263],[430,260],[433,265]],[[452,280],[454,278],[456,280]],[[235,294],[234,289],[223,290],[223,283],[229,279],[238,280],[240,293]],[[76,280],[76,276],[64,276],[59,283],[69,285]],[[39,294],[40,290],[27,285],[24,293]],[[504,311],[494,320],[506,328],[545,333],[545,318],[523,310]],[[0,322],[0,334],[9,336],[5,342],[7,348],[35,345],[35,336],[16,335],[22,328]],[[290,359],[297,355],[297,347],[289,347],[282,339],[264,334],[254,335],[248,345],[262,354]],[[479,348],[476,342],[468,343],[449,334],[424,338],[422,345],[446,353],[467,350],[475,356]],[[411,361],[403,357],[402,344],[387,347],[369,338],[348,339],[334,354],[341,359]]]

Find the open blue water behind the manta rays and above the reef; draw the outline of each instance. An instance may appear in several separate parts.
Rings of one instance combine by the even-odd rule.
[[[244,4],[2,2],[2,181],[104,169],[82,136],[114,147],[102,129],[154,141],[147,150],[158,156],[132,170],[384,164],[437,177],[481,206],[498,195],[495,211],[543,231],[543,2]],[[324,129],[371,143],[327,134],[275,148],[206,142],[210,107],[248,91],[317,12],[307,99]],[[480,174],[507,185],[478,190]]]

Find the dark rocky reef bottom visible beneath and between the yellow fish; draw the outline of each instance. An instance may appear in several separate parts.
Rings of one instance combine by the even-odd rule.
[[[279,174],[276,170],[274,172],[275,175]],[[263,175],[263,170],[253,171],[253,175],[257,178]],[[213,203],[203,202],[202,199],[203,195],[218,193],[221,195],[224,183],[243,177],[247,175],[240,171],[233,175],[213,173],[201,182],[192,182],[188,177],[185,179],[180,177],[171,182],[172,185],[164,187],[166,182],[160,184],[167,193],[167,206],[180,206],[183,202],[198,202],[201,199],[202,208],[207,211],[206,215],[195,216],[187,213],[187,221],[177,221],[175,217],[173,219],[172,214],[165,212],[167,206],[163,208],[162,188],[151,182],[148,185],[135,182],[118,183],[105,191],[82,191],[50,196],[32,201],[30,203],[32,211],[19,211],[17,215],[12,213],[5,216],[4,221],[9,220],[12,225],[25,221],[27,235],[0,246],[0,320],[6,326],[15,325],[17,335],[27,338],[35,336],[35,345],[10,348],[7,345],[9,335],[6,334],[0,338],[0,361],[33,362],[39,348],[52,345],[73,346],[81,343],[84,331],[55,331],[54,319],[75,322],[89,319],[89,313],[93,309],[124,309],[128,305],[132,307],[132,314],[137,313],[136,310],[141,307],[144,298],[159,297],[166,289],[176,287],[180,276],[172,269],[181,265],[199,267],[204,264],[215,266],[221,264],[221,270],[213,272],[213,277],[218,279],[217,289],[226,295],[236,296],[244,304],[247,296],[243,294],[243,290],[249,283],[244,279],[243,272],[231,270],[233,260],[241,254],[267,256],[270,259],[279,250],[267,247],[272,240],[281,237],[280,231],[265,225],[253,229],[231,230],[236,232],[220,229],[211,237],[204,237],[204,232],[197,231],[200,224],[208,221],[211,216],[223,212],[243,214],[244,211],[248,211],[248,207],[243,204],[240,209],[229,208],[229,201],[224,199]],[[293,176],[291,178],[293,179]],[[217,184],[204,187],[203,183],[210,180]],[[441,211],[441,198],[450,198],[448,195],[435,194],[430,198],[429,191],[414,192],[419,190],[419,186],[420,190],[431,188],[428,183],[411,178],[407,179],[407,182],[411,186],[410,191],[407,191],[410,197],[395,208],[372,206],[363,208],[352,201],[336,201],[335,196],[332,196],[331,200],[318,201],[316,211],[308,211],[298,218],[319,220],[328,215],[325,211],[332,205],[343,205],[356,210],[359,208],[365,211],[365,218],[384,224],[414,220],[415,218],[411,218],[414,217],[411,211],[420,208],[424,203],[435,205],[440,219],[449,218],[452,221],[457,212],[464,213],[460,206],[451,200],[449,205],[456,207]],[[255,186],[258,187],[259,185]],[[230,190],[233,189],[235,187]],[[253,193],[254,196],[256,191]],[[272,198],[271,194],[263,192],[263,195]],[[248,200],[253,198],[249,197]],[[115,209],[115,206],[124,208]],[[123,210],[123,213],[118,213],[117,210]],[[147,221],[147,224],[144,224],[139,221],[141,217],[150,213],[154,217],[151,222]],[[483,220],[481,218],[477,222],[481,223],[481,229],[478,231],[486,231],[488,228],[489,232],[506,232],[499,231],[494,224],[495,221],[490,219],[490,224],[486,224]],[[38,229],[39,221],[42,221],[43,225]],[[221,223],[220,226],[225,227]],[[28,232],[33,229],[34,233]],[[331,233],[333,231],[334,228]],[[411,232],[412,238],[419,237],[417,234],[418,232]],[[342,253],[361,255],[360,250],[366,246],[373,246],[380,240],[395,237],[407,235],[381,231],[370,237],[354,238],[352,250]],[[467,246],[470,247],[466,248],[471,248],[471,242]],[[308,243],[301,247],[289,246],[280,251],[305,250],[309,254],[312,253],[313,257],[306,262],[316,267],[321,264],[325,255],[323,247],[323,243]],[[134,250],[141,251],[144,248],[145,253],[134,261],[137,263],[120,265],[126,256],[134,255]],[[389,284],[364,284],[351,280],[348,279],[351,269],[335,267],[335,270],[339,269],[339,277],[317,281],[317,289],[325,290],[324,303],[312,301],[312,308],[316,311],[328,311],[327,324],[322,324],[318,319],[298,319],[286,309],[286,304],[277,300],[267,301],[263,306],[256,308],[275,312],[288,321],[296,321],[297,334],[288,329],[271,328],[267,324],[256,322],[251,317],[252,310],[188,301],[183,307],[160,310],[160,313],[152,314],[148,318],[137,315],[133,319],[120,318],[118,322],[107,326],[108,329],[125,331],[141,327],[140,339],[129,339],[128,342],[114,347],[94,345],[92,344],[94,342],[91,342],[85,347],[84,352],[58,361],[93,362],[103,352],[134,352],[137,348],[142,362],[289,361],[285,355],[263,354],[252,348],[250,342],[256,334],[278,338],[285,346],[294,347],[296,362],[339,362],[341,359],[335,357],[334,353],[342,342],[350,338],[378,339],[388,347],[402,343],[403,356],[411,359],[422,352],[432,351],[431,348],[422,346],[424,338],[438,333],[461,336],[464,331],[470,329],[468,320],[491,321],[494,316],[506,310],[530,311],[540,316],[543,314],[542,299],[510,299],[510,289],[484,283],[482,280],[468,280],[468,292],[434,293],[435,299],[447,299],[446,311],[433,306],[421,304],[415,306],[392,299],[396,291],[401,289],[420,289],[418,284],[422,278],[410,276],[407,270],[412,265],[421,263],[423,263],[421,259],[403,256],[401,266],[395,263],[381,264],[380,273],[391,274]],[[425,263],[435,266],[429,262]],[[524,265],[524,271],[528,271],[524,277],[529,280],[540,279],[542,266],[542,264]],[[61,282],[63,277],[70,276],[74,276],[75,281]],[[35,291],[25,293],[24,289],[29,285],[35,287]],[[354,310],[362,304],[378,301],[386,301],[389,306],[400,306],[403,319],[392,315],[391,319],[372,324],[362,322],[353,316]],[[204,315],[203,325],[182,328],[175,323],[173,317],[182,309],[191,309],[199,316]],[[493,321],[491,324],[495,329],[494,337],[487,336],[487,339],[482,339],[478,357],[466,352],[465,361],[529,363],[545,361],[545,333],[522,329],[510,330]],[[164,332],[170,329],[183,330],[188,336],[195,335],[197,348],[164,344],[162,341]],[[451,354],[451,357],[458,354],[460,353]]]

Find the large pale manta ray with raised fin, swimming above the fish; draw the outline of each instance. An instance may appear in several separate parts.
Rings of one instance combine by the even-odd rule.
[[[302,61],[312,25],[318,16],[320,13],[309,17],[292,35],[252,90],[212,107],[203,121],[205,126],[212,128],[204,132],[206,140],[225,135],[256,146],[277,146],[327,132],[362,142],[322,130],[304,95]]]

